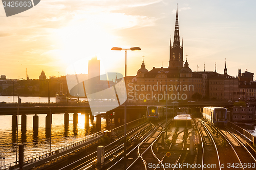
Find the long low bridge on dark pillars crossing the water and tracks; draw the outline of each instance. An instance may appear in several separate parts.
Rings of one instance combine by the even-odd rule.
[[[127,122],[143,117],[146,114],[146,107],[148,105],[163,105],[166,106],[165,102],[163,103],[154,103],[154,102],[142,102],[142,103],[132,103],[127,102]],[[254,104],[255,105],[255,104]],[[187,107],[191,108],[190,113],[200,112],[200,108],[204,106],[221,106],[226,108],[231,108],[233,103],[231,102],[222,102],[222,101],[200,101],[200,102],[179,102],[172,103],[168,102],[167,107],[175,108],[177,107]],[[18,104],[0,104],[0,115],[12,115],[12,127],[16,128],[17,123],[17,112],[19,115],[22,115],[22,129],[26,129],[27,124],[27,114],[34,114],[33,116],[33,127],[38,129],[38,116],[37,114],[47,114],[46,116],[46,128],[49,129],[51,126],[52,114],[64,113],[64,123],[69,124],[69,114],[73,113],[74,123],[78,122],[78,114],[85,114],[86,123],[89,124],[89,115],[93,119],[93,115],[97,115],[97,127],[101,125],[101,113],[105,110],[110,110],[106,112],[106,119],[114,118],[115,125],[123,125],[124,119],[124,106],[121,105],[115,109],[112,109],[111,102],[103,102],[101,106],[98,107],[98,112],[92,113],[89,103],[22,103],[19,106]],[[112,115],[112,116],[110,116]]]

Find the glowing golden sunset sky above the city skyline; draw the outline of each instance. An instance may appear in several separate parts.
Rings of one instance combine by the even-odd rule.
[[[97,55],[105,71],[136,76],[142,56],[146,68],[167,67],[170,37],[174,37],[176,4],[180,38],[193,71],[228,74],[238,68],[256,73],[256,1],[203,0],[42,0],[34,8],[6,17],[0,5],[0,75],[38,79],[66,75],[73,62]]]

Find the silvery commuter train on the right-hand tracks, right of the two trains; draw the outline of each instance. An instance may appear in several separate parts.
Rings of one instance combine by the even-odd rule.
[[[211,125],[227,126],[227,109],[223,107],[204,107],[203,117],[210,122]],[[217,118],[218,115],[218,118]]]

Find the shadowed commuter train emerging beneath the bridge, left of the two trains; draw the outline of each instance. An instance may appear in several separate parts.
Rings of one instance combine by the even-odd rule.
[[[164,118],[166,112],[166,107],[163,106],[147,106],[146,117],[149,120],[158,120]],[[167,108],[167,116],[174,116],[174,110]]]

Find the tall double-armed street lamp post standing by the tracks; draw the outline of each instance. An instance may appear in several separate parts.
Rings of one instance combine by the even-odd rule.
[[[125,83],[125,90],[126,90],[126,53],[127,50],[141,50],[140,47],[131,47],[131,48],[120,48],[120,47],[113,47],[111,48],[111,50],[117,50],[117,51],[121,51],[121,50],[125,50],[125,77],[124,77],[124,83]],[[127,99],[127,98],[126,98]],[[124,148],[123,148],[123,168],[126,169],[126,105],[127,105],[127,100],[125,100],[124,102]]]

